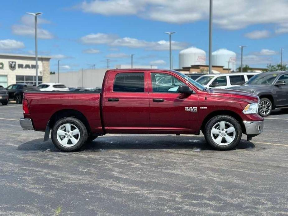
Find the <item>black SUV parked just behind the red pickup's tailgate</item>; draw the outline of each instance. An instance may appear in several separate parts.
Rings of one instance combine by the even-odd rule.
[[[40,91],[39,88],[33,85],[21,83],[13,84],[7,87],[9,99],[16,101],[17,104],[21,104],[23,100],[24,92],[36,92]]]

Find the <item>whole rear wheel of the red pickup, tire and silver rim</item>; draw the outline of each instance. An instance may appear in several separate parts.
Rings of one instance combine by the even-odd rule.
[[[77,151],[87,141],[87,129],[77,118],[65,117],[54,124],[51,139],[61,151]]]

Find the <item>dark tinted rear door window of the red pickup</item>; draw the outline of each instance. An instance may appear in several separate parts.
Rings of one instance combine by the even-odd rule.
[[[117,73],[113,92],[144,92],[144,73]]]

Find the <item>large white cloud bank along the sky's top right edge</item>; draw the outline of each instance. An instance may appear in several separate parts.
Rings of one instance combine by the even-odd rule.
[[[196,0],[96,0],[84,1],[83,12],[102,15],[136,15],[168,23],[207,20],[209,1]],[[224,29],[241,29],[255,24],[280,25],[288,20],[286,0],[214,0],[214,23]],[[281,30],[280,30],[281,31]]]

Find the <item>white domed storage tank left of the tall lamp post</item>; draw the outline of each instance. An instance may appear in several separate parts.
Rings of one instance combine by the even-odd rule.
[[[190,67],[191,65],[205,65],[206,53],[202,49],[189,47],[179,52],[179,68]]]

